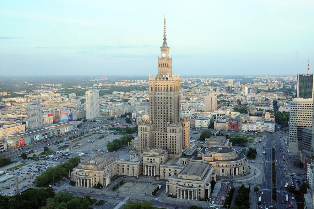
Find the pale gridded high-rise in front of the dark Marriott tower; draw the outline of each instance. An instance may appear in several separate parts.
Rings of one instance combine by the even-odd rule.
[[[302,140],[302,129],[311,127],[313,120],[313,99],[293,98],[290,101],[289,157],[300,157],[298,140]]]

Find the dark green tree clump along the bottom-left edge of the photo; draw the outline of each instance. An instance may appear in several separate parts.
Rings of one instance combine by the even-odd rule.
[[[68,192],[56,195],[51,188],[31,189],[13,198],[0,195],[3,209],[88,209],[92,203],[90,196],[82,198]]]

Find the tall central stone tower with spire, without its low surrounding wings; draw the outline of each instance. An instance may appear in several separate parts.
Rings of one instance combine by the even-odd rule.
[[[182,155],[182,121],[180,118],[180,75],[172,74],[172,59],[166,42],[166,19],[164,42],[158,57],[158,74],[149,76],[149,122],[138,124],[138,145],[168,150],[169,157]],[[150,132],[148,132],[150,130]]]

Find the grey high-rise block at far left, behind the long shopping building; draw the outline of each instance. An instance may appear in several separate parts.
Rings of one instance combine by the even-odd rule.
[[[27,105],[27,120],[29,129],[37,129],[44,126],[40,102],[32,102]]]

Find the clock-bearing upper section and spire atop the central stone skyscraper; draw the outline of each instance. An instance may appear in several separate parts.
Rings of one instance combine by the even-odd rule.
[[[167,75],[170,77],[172,74],[172,58],[169,57],[169,47],[166,42],[166,17],[164,24],[164,43],[160,47],[160,58],[158,57],[158,76]]]

